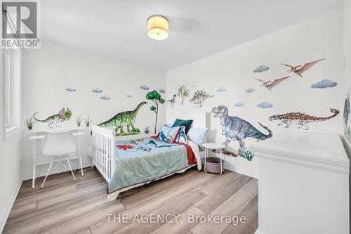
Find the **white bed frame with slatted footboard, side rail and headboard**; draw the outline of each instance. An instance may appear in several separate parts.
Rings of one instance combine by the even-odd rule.
[[[193,127],[206,128],[206,112],[168,112],[166,123],[173,124],[176,119],[193,119]],[[116,141],[135,139],[143,135],[116,136],[116,131],[102,126],[91,126],[92,130],[92,166],[96,167],[107,183],[110,182],[114,174],[114,148]],[[145,135],[144,135],[145,136]],[[185,171],[185,170],[184,170]],[[183,172],[184,172],[183,171]],[[170,175],[169,175],[170,176]],[[166,177],[166,176],[165,176]],[[128,189],[127,189],[128,190]]]

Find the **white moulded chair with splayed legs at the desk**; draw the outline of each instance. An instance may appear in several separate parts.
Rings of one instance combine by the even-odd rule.
[[[53,167],[53,163],[55,160],[58,160],[58,164],[53,167],[55,169],[58,167],[59,164],[64,166],[65,168],[69,169],[72,172],[72,176],[74,178],[74,181],[76,181],[76,177],[74,176],[74,173],[72,171],[72,165],[69,160],[69,157],[77,157],[77,152],[78,152],[78,147],[74,141],[72,132],[70,131],[53,131],[53,132],[47,132],[45,134],[44,138],[44,145],[43,149],[41,151],[41,154],[46,157],[52,157],[50,166],[48,167],[48,171],[46,171],[46,176],[44,178],[43,184],[41,185],[41,188],[44,188],[44,183],[46,181],[46,178],[48,177],[48,174]],[[81,164],[81,157],[78,155],[79,158],[79,164],[81,167],[81,176],[84,176],[83,174],[83,167]],[[68,167],[62,163],[62,160],[67,160]]]

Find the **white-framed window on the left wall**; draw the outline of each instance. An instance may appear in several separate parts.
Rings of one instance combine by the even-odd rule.
[[[4,67],[4,138],[20,131],[21,119],[21,51],[3,50]]]

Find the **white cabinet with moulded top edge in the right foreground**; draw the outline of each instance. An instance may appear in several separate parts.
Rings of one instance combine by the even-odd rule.
[[[253,145],[256,234],[348,234],[349,160],[338,135],[291,133]]]

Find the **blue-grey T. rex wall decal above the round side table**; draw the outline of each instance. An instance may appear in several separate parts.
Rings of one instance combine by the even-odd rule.
[[[267,126],[262,126],[264,129],[268,131],[268,134],[265,135],[262,132],[258,131],[252,124],[247,122],[244,119],[241,119],[236,116],[229,116],[228,115],[228,109],[224,105],[218,105],[216,108],[212,108],[212,112],[215,114],[213,117],[219,117],[220,118],[220,125],[222,126],[222,135],[227,138],[227,140],[223,143],[224,145],[228,145],[230,141],[239,141],[239,155],[242,155],[242,152],[245,149],[245,138],[255,138],[257,140],[263,141],[267,138],[270,138],[273,136],[272,131],[267,128]]]

